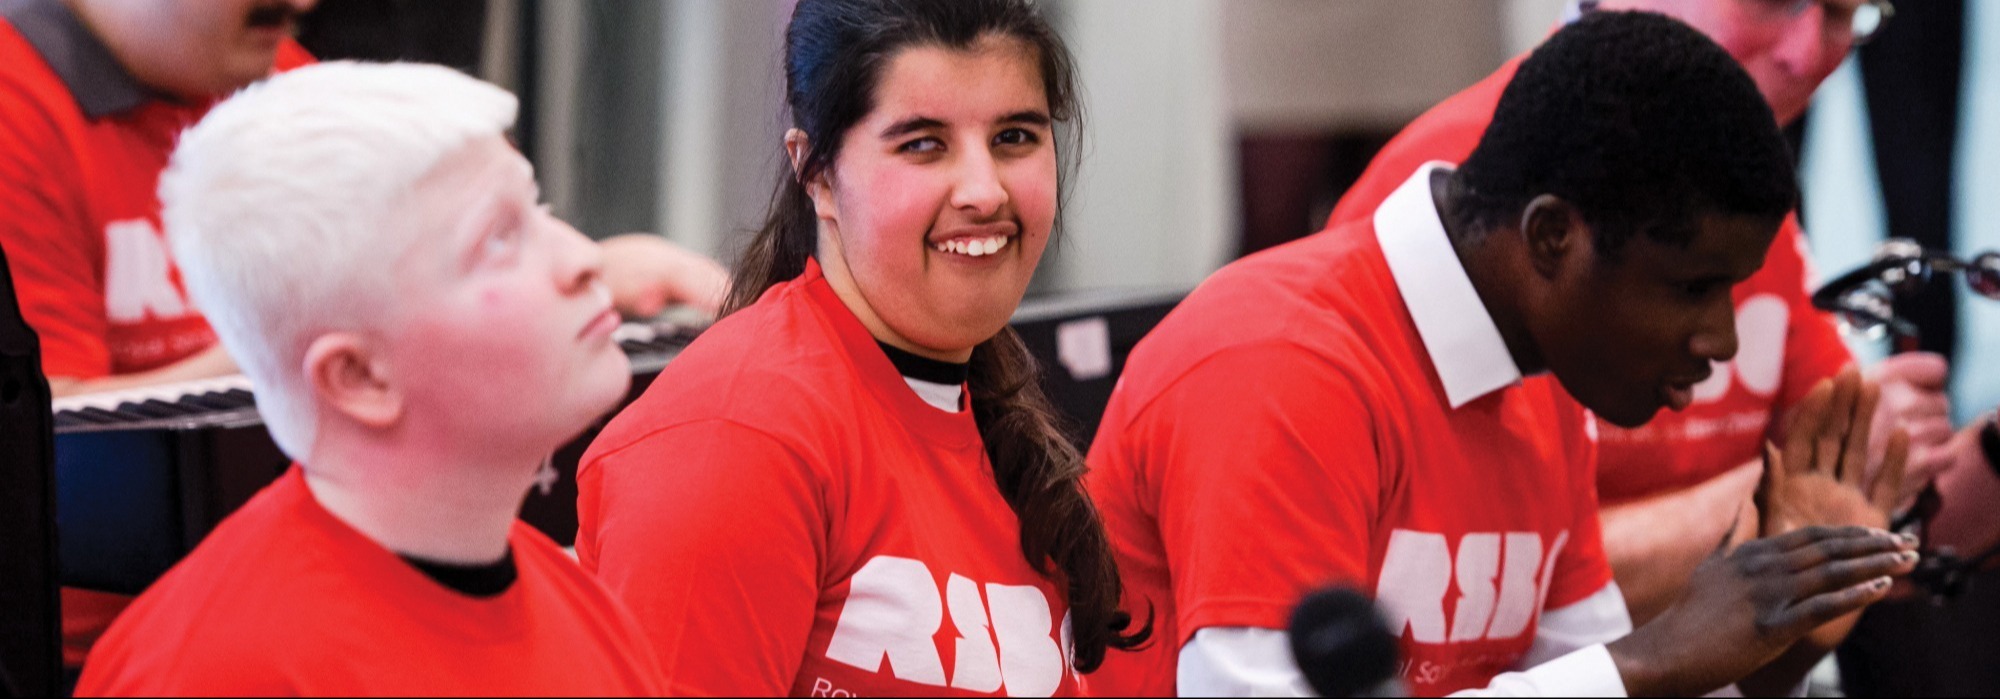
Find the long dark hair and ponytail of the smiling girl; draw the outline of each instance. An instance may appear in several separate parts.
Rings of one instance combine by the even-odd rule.
[[[982,36],[1032,46],[1050,116],[1060,124],[1058,180],[1066,182],[1074,168],[1082,126],[1076,70],[1028,0],[800,0],[784,36],[786,104],[808,148],[796,170],[790,162],[780,168],[770,214],[736,264],[724,314],[806,272],[818,248],[818,216],[802,182],[834,164],[842,136],[874,110],[882,68],[904,48],[972,48]],[[1118,563],[1084,493],[1084,455],[1060,429],[1040,367],[1012,328],[972,350],[968,391],[994,483],[1020,519],[1020,551],[1068,593],[1076,671],[1098,669],[1108,649],[1146,643],[1152,621],[1126,633],[1132,615],[1118,609]]]

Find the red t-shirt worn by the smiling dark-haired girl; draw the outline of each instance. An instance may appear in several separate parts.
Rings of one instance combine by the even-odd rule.
[[[970,411],[904,383],[808,264],[584,453],[576,553],[674,695],[1074,695]]]

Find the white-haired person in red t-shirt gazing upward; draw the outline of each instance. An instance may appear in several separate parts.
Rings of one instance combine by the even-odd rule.
[[[298,465],[140,595],[80,695],[662,691],[636,621],[516,519],[630,367],[514,116],[448,68],[324,64],[182,138],[168,240]]]

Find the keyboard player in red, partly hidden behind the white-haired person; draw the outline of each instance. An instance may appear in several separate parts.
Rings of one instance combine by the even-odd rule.
[[[236,373],[160,234],[178,134],[222,96],[312,62],[318,0],[0,0],[0,246],[56,395]],[[604,242],[618,308],[714,310],[714,262],[658,236]],[[78,667],[128,597],[64,589]]]

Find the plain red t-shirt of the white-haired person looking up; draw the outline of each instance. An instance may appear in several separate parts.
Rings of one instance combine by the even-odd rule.
[[[328,513],[292,469],[90,653],[78,695],[660,695],[632,615],[534,527],[518,579],[452,591]]]

